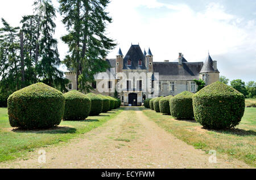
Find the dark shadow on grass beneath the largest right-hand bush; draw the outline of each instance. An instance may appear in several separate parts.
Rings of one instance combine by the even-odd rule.
[[[202,127],[204,128],[204,127]],[[234,128],[234,129],[227,129],[227,130],[211,130],[208,128],[204,128],[208,131],[213,132],[220,132],[222,134],[231,134],[231,135],[238,135],[238,136],[256,136],[256,132],[253,130],[242,130],[241,128]]]

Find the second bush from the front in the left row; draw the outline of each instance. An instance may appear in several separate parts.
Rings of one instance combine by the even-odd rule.
[[[64,94],[65,110],[63,120],[84,120],[90,113],[91,101],[83,93],[73,90]]]

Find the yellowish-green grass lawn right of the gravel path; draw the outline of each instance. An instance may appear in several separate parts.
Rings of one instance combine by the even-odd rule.
[[[206,130],[196,121],[178,121],[170,115],[144,109],[143,113],[160,127],[206,153],[237,158],[256,167],[256,108],[245,108],[240,125],[235,130]]]

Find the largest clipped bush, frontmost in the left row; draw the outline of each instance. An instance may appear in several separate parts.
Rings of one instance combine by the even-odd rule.
[[[57,126],[64,114],[65,98],[60,91],[43,83],[32,84],[9,96],[12,127],[41,129]]]

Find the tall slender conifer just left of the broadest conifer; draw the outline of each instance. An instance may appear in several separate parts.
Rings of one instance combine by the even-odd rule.
[[[57,50],[57,40],[53,38],[56,24],[53,22],[56,17],[55,8],[51,1],[44,1],[45,12],[42,16],[42,38],[40,40],[41,58],[36,65],[36,71],[42,82],[52,87],[59,87],[62,91],[68,80],[63,78],[63,72],[58,69],[61,64]]]

